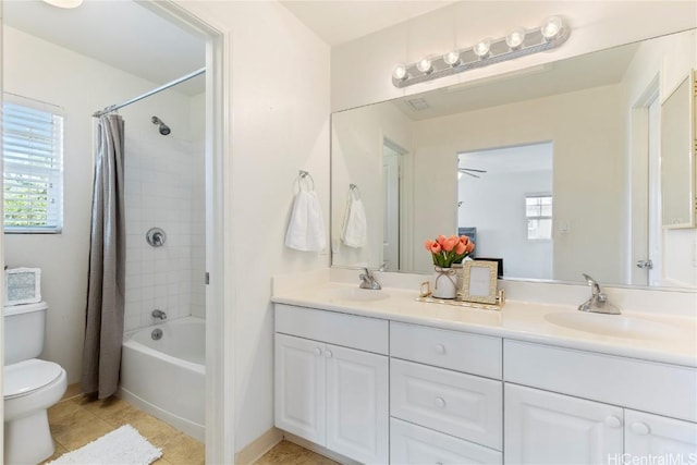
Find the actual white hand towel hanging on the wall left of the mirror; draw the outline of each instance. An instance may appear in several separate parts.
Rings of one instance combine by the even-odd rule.
[[[303,252],[321,252],[327,245],[325,221],[315,191],[301,189],[293,201],[285,245]]]

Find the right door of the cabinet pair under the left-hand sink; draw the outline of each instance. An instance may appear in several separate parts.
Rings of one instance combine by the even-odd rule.
[[[327,448],[388,462],[388,357],[327,345]]]

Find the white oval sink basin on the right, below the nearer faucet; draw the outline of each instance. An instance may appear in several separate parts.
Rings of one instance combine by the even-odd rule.
[[[600,335],[631,339],[662,339],[674,336],[680,328],[657,321],[587,313],[554,313],[545,315],[552,325]]]

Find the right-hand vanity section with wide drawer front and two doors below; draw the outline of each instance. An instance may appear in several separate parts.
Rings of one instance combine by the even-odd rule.
[[[697,460],[695,368],[509,340],[504,360],[506,463]]]

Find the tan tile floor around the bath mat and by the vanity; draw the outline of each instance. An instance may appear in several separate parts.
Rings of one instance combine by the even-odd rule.
[[[48,421],[56,442],[56,453],[46,462],[82,448],[122,425],[130,424],[155,446],[162,449],[162,457],[154,462],[154,465],[205,463],[205,448],[201,442],[120,399],[93,401],[81,394],[78,384],[71,384],[63,400],[49,408]],[[277,464],[339,465],[338,462],[289,441],[281,441],[254,463],[254,465]]]

